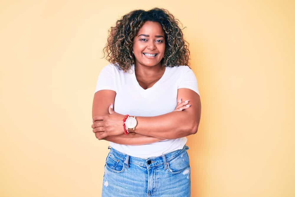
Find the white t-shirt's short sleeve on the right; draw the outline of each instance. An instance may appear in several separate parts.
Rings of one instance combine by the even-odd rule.
[[[195,91],[200,96],[198,89],[198,81],[194,72],[191,69],[185,71],[184,74],[181,76],[178,83],[178,89],[179,88],[189,88]]]

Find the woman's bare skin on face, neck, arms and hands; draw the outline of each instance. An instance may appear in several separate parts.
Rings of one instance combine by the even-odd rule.
[[[138,83],[144,89],[152,87],[165,72],[165,66],[160,64],[165,52],[165,39],[163,37],[164,32],[161,25],[158,22],[151,21],[145,22],[134,37],[135,75]],[[155,58],[147,58],[143,53],[158,53],[158,55]],[[112,100],[113,103],[116,93],[112,90],[96,92],[94,100],[96,100],[96,97],[102,98],[108,95],[109,100]],[[183,100],[193,100],[196,107],[191,107],[192,109],[186,112],[184,110],[188,110],[190,106],[184,105],[187,105],[188,101],[186,103],[179,102],[176,110],[171,113],[154,117],[137,116],[138,123],[135,135],[124,135],[122,127],[124,115],[114,112],[111,105],[108,106],[108,113],[101,112],[104,115],[93,113],[93,124],[91,127],[99,140],[105,139],[119,144],[127,144],[128,141],[130,145],[148,144],[163,139],[176,139],[194,134],[197,131],[201,113],[199,95],[190,89],[181,88],[178,89],[177,99],[180,100],[181,97]],[[102,105],[106,106],[106,103]],[[93,105],[93,108],[95,107]],[[182,108],[181,112],[178,110],[179,108]],[[180,114],[184,112],[186,113]],[[151,125],[149,124],[151,121],[154,126],[152,128],[153,131],[151,131]],[[163,124],[163,122],[166,124]],[[161,132],[158,132],[158,130]],[[132,141],[130,138],[134,140]]]

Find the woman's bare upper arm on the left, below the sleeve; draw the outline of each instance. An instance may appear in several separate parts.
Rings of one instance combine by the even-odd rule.
[[[109,106],[114,105],[116,92],[109,89],[103,89],[95,92],[92,104],[92,118],[97,115],[109,114]]]

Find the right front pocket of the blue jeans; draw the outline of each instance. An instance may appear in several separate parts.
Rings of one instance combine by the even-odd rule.
[[[171,174],[177,174],[189,167],[189,155],[186,150],[181,152],[177,157],[167,162],[167,170]]]

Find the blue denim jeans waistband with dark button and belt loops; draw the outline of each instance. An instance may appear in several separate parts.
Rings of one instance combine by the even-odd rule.
[[[148,159],[142,159],[140,157],[132,157],[130,155],[119,152],[118,150],[112,148],[111,146],[108,146],[108,149],[111,149],[109,154],[112,153],[116,155],[117,157],[119,157],[120,159],[124,160],[124,163],[127,168],[129,167],[129,164],[132,163],[135,165],[140,165],[140,166],[144,166],[148,168],[164,164],[164,169],[166,169],[167,162],[174,159],[185,150],[189,149],[189,146],[184,145],[182,149],[178,149],[176,151],[172,151],[158,157],[149,157]]]

